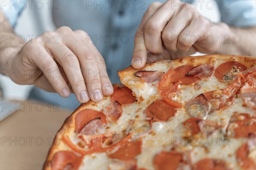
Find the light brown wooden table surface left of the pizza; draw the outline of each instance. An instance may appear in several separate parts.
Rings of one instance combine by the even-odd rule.
[[[35,101],[0,122],[0,169],[41,170],[58,129],[72,111]]]

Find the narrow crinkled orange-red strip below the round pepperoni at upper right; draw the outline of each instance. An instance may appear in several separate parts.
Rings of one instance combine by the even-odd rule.
[[[244,76],[242,74],[239,74],[236,80],[223,90],[223,94],[225,94],[227,97],[230,97],[232,94],[237,94],[238,90],[241,88],[245,81],[246,79],[244,78]]]

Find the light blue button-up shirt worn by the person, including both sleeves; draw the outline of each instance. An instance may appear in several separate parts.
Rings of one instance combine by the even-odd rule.
[[[111,82],[118,83],[116,72],[131,65],[134,34],[148,6],[155,1],[164,3],[166,0],[59,0],[56,9],[52,8],[52,17],[57,27],[69,26],[73,30],[86,31],[105,59]],[[17,6],[20,3],[12,0],[12,4],[15,2]],[[207,4],[207,1],[183,2],[212,7],[212,3]],[[255,0],[216,0],[215,4],[222,22],[236,27],[256,26]],[[2,2],[1,8],[14,26],[22,8],[6,6]],[[79,105],[74,95],[61,98],[39,88],[33,89],[31,97],[44,102],[58,102],[72,110]]]

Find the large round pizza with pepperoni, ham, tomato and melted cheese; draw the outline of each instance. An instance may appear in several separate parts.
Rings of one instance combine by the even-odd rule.
[[[205,55],[118,72],[81,104],[45,170],[256,169],[256,57]]]

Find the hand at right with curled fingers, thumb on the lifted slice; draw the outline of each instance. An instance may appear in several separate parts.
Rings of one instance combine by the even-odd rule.
[[[226,34],[229,26],[211,23],[191,6],[177,0],[149,6],[134,39],[134,68],[142,68],[147,61],[175,59],[196,51],[209,54],[220,48],[218,36]]]

